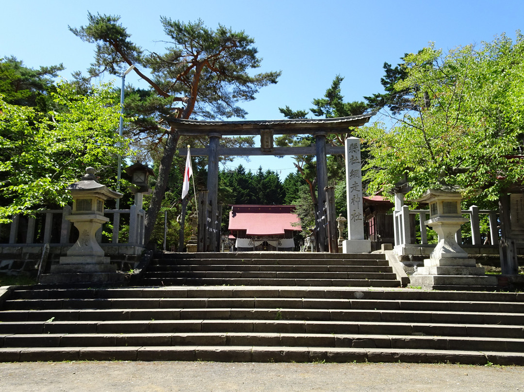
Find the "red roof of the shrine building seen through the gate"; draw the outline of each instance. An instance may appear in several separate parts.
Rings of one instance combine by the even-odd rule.
[[[246,235],[278,235],[302,227],[294,205],[231,205],[229,230],[245,230]]]

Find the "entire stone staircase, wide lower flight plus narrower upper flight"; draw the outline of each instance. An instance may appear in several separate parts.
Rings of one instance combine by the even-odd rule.
[[[358,259],[165,255],[147,287],[4,288],[0,362],[524,365],[524,293],[385,287],[384,260]]]

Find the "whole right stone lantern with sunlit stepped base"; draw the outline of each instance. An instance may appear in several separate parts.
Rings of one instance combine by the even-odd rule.
[[[455,233],[467,222],[461,213],[462,195],[456,190],[430,189],[418,202],[429,203],[430,219],[421,222],[431,226],[439,235],[439,242],[424,260],[424,266],[410,277],[410,286],[423,289],[474,289],[497,286],[497,278],[486,276],[483,267],[476,267],[475,259],[457,244]]]

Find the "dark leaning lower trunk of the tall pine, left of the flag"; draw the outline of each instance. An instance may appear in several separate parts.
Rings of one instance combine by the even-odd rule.
[[[162,159],[160,160],[160,167],[158,168],[158,179],[155,185],[155,189],[151,194],[151,201],[149,202],[149,208],[147,209],[146,215],[146,227],[144,231],[144,244],[148,244],[155,227],[158,212],[162,205],[162,199],[167,188],[167,181],[169,178],[169,171],[173,163],[174,153],[177,150],[179,134],[175,129],[171,129],[171,133],[168,136],[166,147],[163,151]]]

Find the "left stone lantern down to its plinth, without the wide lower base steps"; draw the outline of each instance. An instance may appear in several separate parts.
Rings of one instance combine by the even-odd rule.
[[[88,167],[84,177],[67,189],[73,197],[71,215],[65,217],[78,229],[78,240],[69,249],[66,257],[60,257],[60,264],[109,264],[110,258],[97,243],[95,233],[103,223],[109,221],[104,216],[104,202],[119,199],[122,193],[108,189],[96,181],[94,168]]]

